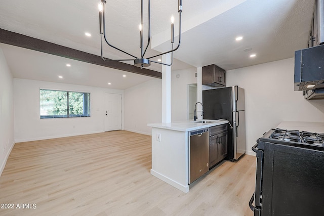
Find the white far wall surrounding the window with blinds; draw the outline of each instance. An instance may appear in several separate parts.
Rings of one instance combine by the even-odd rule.
[[[39,116],[40,88],[90,92],[91,117],[41,119]],[[15,78],[14,113],[16,142],[104,132],[105,93],[119,93],[123,95],[121,90]]]

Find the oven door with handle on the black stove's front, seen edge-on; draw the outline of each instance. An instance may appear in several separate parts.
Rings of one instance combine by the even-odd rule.
[[[254,212],[254,216],[261,215],[262,207],[262,174],[263,174],[263,150],[258,149],[258,143],[252,147],[252,150],[257,153],[257,166],[256,166],[256,182],[255,192],[253,193],[249,202],[251,210]],[[254,201],[254,206],[253,206]]]

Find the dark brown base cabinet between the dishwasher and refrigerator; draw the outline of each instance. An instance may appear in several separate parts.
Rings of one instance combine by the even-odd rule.
[[[227,124],[210,127],[209,168],[227,156]]]

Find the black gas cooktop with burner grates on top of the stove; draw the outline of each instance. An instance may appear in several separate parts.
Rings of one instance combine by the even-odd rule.
[[[304,144],[324,147],[324,134],[306,131],[287,130],[281,128],[271,129],[263,136],[268,142],[282,144]],[[261,138],[262,139],[262,138]],[[271,140],[271,141],[270,141]]]

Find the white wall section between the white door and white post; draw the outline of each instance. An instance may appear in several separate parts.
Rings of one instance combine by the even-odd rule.
[[[151,135],[147,123],[161,122],[162,80],[151,79],[124,92],[125,130]]]

